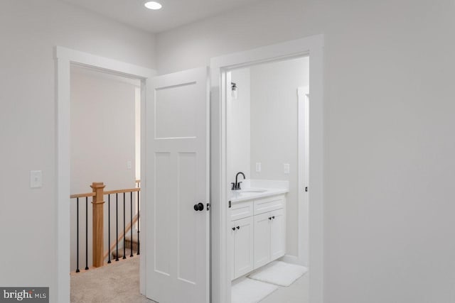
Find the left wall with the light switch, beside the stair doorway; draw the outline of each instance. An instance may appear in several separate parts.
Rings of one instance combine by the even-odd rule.
[[[0,285],[49,286],[55,302],[53,47],[154,68],[154,37],[53,0],[1,1],[0,37]],[[43,171],[42,188],[29,187],[30,170]]]

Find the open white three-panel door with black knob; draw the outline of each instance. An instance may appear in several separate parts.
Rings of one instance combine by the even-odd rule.
[[[147,82],[146,297],[209,302],[208,72]]]

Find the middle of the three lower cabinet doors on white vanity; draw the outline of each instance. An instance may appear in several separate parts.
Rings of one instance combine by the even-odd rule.
[[[269,213],[254,216],[255,220],[255,269],[269,263],[270,225]]]

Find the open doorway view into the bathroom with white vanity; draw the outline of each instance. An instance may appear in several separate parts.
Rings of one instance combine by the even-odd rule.
[[[309,57],[226,76],[231,302],[308,302]]]

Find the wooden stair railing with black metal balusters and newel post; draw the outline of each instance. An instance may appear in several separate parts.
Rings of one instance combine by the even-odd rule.
[[[119,241],[124,239],[124,246],[125,246],[125,235],[128,231],[130,231],[132,236],[132,226],[134,224],[138,224],[137,228],[137,236],[138,236],[138,251],[137,254],[139,255],[139,192],[140,192],[140,180],[136,180],[135,182],[138,187],[131,188],[131,189],[117,189],[117,190],[110,190],[105,191],[105,184],[102,182],[93,182],[90,187],[92,187],[92,192],[85,193],[85,194],[71,194],[70,199],[77,199],[77,270],[76,272],[80,272],[79,270],[79,199],[85,198],[85,270],[88,270],[88,248],[87,248],[87,238],[88,238],[88,198],[92,197],[92,259],[93,259],[93,267],[97,268],[100,266],[105,265],[105,259],[109,257],[109,261],[107,263],[111,263],[110,260],[110,253],[114,248],[117,247],[117,258],[118,259],[118,245]],[[137,194],[137,214],[134,216],[132,215],[133,212],[133,193],[136,192]],[[111,202],[111,194],[115,194],[115,203],[116,203],[116,238],[112,246],[110,245],[110,202]],[[119,236],[119,223],[118,223],[118,195],[123,194],[123,231]],[[129,202],[130,202],[130,220],[129,224],[126,225],[126,194],[129,194]],[[104,250],[104,197],[107,195],[108,197],[108,248],[105,252]],[[134,204],[136,204],[136,200],[134,200]],[[124,252],[125,252],[124,247]],[[132,256],[132,253],[131,255]],[[125,253],[123,258],[125,259]]]

